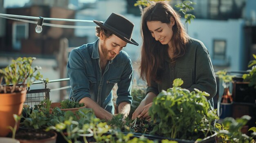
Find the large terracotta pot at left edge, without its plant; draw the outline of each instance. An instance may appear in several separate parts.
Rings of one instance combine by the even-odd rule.
[[[26,93],[24,89],[21,92],[0,94],[0,136],[7,136],[11,132],[8,127],[15,125],[13,114],[21,114]]]

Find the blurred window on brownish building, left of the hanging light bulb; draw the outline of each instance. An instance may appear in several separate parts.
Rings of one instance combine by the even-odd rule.
[[[12,25],[12,46],[20,50],[21,40],[29,37],[29,24],[24,22],[13,22]]]

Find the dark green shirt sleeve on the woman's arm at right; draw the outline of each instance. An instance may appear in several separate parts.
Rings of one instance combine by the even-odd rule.
[[[204,44],[199,44],[196,52],[196,67],[195,67],[195,84],[193,84],[188,90],[193,91],[197,88],[201,91],[205,91],[210,94],[206,97],[208,100],[213,98],[217,92],[216,78],[211,63],[211,58],[207,48]]]

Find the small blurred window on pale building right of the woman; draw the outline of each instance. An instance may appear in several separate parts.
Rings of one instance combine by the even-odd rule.
[[[213,59],[225,59],[226,40],[213,40]]]

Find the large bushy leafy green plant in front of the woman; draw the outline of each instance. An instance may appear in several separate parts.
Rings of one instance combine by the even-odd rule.
[[[200,134],[204,137],[213,134],[211,123],[218,116],[216,110],[210,110],[205,97],[209,94],[180,88],[182,83],[181,79],[175,79],[173,88],[163,90],[154,99],[149,114],[156,125],[150,134],[189,140],[198,139]]]

